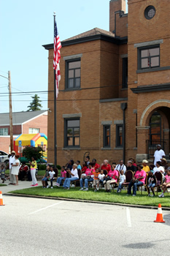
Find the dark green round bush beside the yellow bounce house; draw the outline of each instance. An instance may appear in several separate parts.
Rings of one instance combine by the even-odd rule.
[[[35,157],[35,159],[41,159],[43,157],[43,153],[45,151],[42,149],[42,147],[30,147],[26,146],[26,148],[23,148],[23,157],[26,157],[29,161],[31,161],[31,157]]]

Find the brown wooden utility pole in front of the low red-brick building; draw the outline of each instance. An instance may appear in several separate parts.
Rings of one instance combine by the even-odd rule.
[[[11,95],[11,72],[8,71],[8,89],[9,89],[9,125],[10,125],[10,148],[13,151],[13,125],[12,125],[12,95]]]

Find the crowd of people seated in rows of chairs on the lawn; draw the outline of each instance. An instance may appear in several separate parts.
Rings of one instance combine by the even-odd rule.
[[[90,162],[90,157],[86,157],[85,162],[82,162],[81,166],[79,160],[74,163],[71,159],[66,166],[61,167],[61,176],[58,176],[54,186],[63,186],[63,189],[70,189],[73,181],[79,181],[80,191],[88,191],[90,184],[95,192],[98,191],[100,186],[104,187],[106,192],[110,192],[110,189],[116,185],[117,193],[121,192],[123,186],[127,187],[127,195],[131,195],[131,188],[133,187],[133,196],[136,195],[138,187],[144,186],[148,196],[151,196],[151,189],[153,197],[155,196],[154,188],[157,185],[161,185],[161,183],[159,184],[161,181],[157,180],[155,173],[161,173],[163,191],[159,197],[164,197],[164,192],[170,187],[170,167],[167,165],[166,168],[163,167],[165,166],[164,162],[166,162],[165,158],[160,160],[156,162],[156,166],[148,166],[148,162],[145,159],[142,161],[142,165],[136,165],[134,158],[129,159],[127,165],[120,159],[117,165],[113,162],[111,166],[107,159],[104,159],[104,162],[98,165],[96,159],[92,159]],[[42,178],[42,186],[44,188],[49,187],[47,181],[50,180],[51,188],[53,188],[54,174],[50,176],[48,169],[50,167],[47,166],[46,174]],[[126,181],[126,176],[129,172],[131,173],[131,180]]]

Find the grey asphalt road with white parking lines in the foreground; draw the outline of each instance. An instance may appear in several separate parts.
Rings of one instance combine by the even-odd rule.
[[[3,196],[0,255],[169,255],[170,211]]]

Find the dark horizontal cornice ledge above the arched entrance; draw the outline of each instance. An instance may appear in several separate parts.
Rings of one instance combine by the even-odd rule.
[[[131,88],[134,94],[142,94],[144,92],[152,92],[152,91],[169,91],[170,83],[161,83],[154,84],[149,86],[138,86],[136,88]]]

